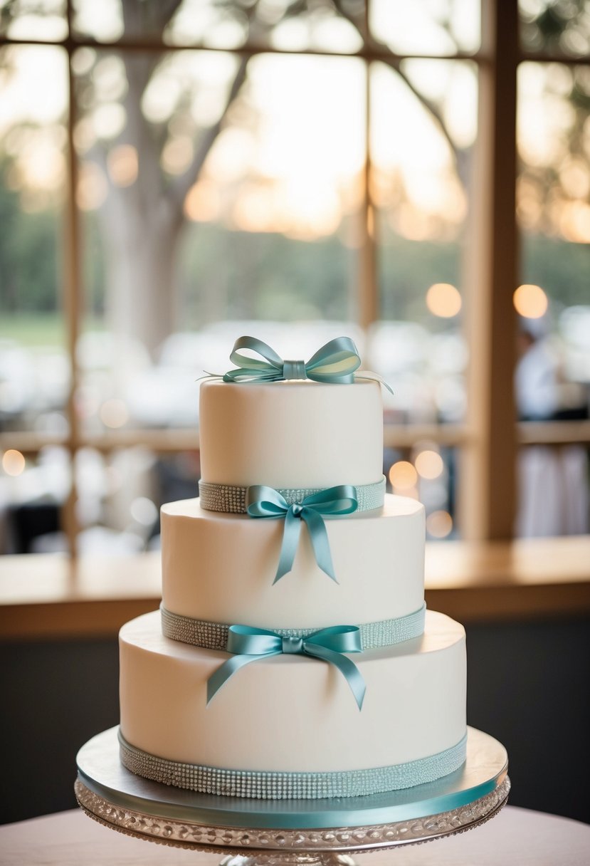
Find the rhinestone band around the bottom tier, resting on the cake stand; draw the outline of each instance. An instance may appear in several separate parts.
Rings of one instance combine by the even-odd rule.
[[[163,785],[222,797],[263,800],[362,797],[433,782],[465,761],[467,735],[455,746],[405,764],[336,772],[263,772],[226,770],[158,758],[131,746],[119,729],[121,763],[128,770]]]

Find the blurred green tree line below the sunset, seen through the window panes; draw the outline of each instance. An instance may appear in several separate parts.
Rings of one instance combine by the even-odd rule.
[[[0,186],[0,313],[60,309],[61,216],[57,210],[22,212],[18,194]],[[103,256],[92,213],[85,216],[83,237],[85,308],[97,316],[104,310]],[[394,235],[384,240],[379,249],[382,317],[432,322],[426,289],[433,282],[460,285],[459,244]],[[558,308],[587,303],[589,258],[587,244],[523,236],[523,280],[545,288]],[[176,326],[196,329],[223,318],[354,320],[357,268],[356,251],[337,237],[298,241],[191,223],[183,241]]]

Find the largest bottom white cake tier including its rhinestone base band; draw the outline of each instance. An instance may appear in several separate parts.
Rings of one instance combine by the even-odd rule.
[[[207,704],[228,653],[162,636],[154,612],[120,632],[121,757],[132,772],[196,791],[262,798],[358,796],[457,769],[465,755],[465,630],[426,613],[424,635],[349,656],[343,675],[306,656],[260,659]]]

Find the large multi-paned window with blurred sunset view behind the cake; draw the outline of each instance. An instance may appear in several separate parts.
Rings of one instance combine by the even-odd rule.
[[[589,20],[0,2],[3,552],[156,545],[160,502],[196,492],[195,380],[248,331],[356,339],[430,538],[535,532],[539,479],[577,497],[542,531],[587,531]],[[519,321],[544,414],[514,405]]]

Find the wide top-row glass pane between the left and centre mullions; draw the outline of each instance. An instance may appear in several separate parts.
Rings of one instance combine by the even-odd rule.
[[[220,3],[219,0],[183,0],[182,3],[116,3],[115,0],[75,0],[74,29],[98,42],[153,39],[169,45],[202,48],[241,48],[248,42],[291,51],[354,52],[362,48],[358,14],[344,16],[330,0],[294,4]]]

